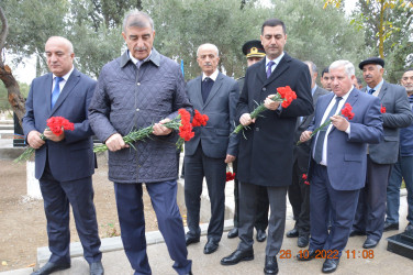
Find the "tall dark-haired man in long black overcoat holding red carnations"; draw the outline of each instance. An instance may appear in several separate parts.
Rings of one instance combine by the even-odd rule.
[[[253,229],[255,206],[259,199],[257,186],[267,187],[270,205],[265,273],[278,273],[277,254],[281,249],[286,227],[286,196],[292,180],[292,152],[297,118],[313,112],[311,78],[308,66],[283,52],[286,25],[269,19],[261,28],[261,44],[266,58],[247,68],[245,85],[237,105],[237,118],[244,127],[238,154],[239,230],[236,251],[221,260],[223,265],[254,258]],[[282,108],[270,98],[277,88],[290,86],[297,99]],[[257,102],[267,108],[257,119],[250,112]]]

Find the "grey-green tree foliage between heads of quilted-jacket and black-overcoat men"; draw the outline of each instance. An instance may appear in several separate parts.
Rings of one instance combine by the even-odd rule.
[[[241,77],[246,61],[243,44],[259,38],[259,29],[269,10],[239,0],[144,0],[143,7],[155,21],[155,47],[177,62],[183,59],[186,79],[200,74],[197,48],[213,43],[220,50],[220,69]]]

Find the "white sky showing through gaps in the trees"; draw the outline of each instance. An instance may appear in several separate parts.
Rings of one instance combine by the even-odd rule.
[[[356,1],[357,0],[343,0],[347,14],[349,14],[355,8]],[[266,4],[270,3],[270,0],[261,0],[261,2]],[[12,56],[9,55],[8,59],[11,58]],[[21,82],[26,82],[30,85],[36,76],[36,59],[34,58],[34,56],[32,58],[24,58],[24,61],[21,62],[18,66],[14,66],[10,63],[8,65],[12,68],[14,77]]]

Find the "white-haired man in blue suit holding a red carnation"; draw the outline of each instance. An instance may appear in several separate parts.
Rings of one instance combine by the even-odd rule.
[[[297,255],[299,261],[325,256],[323,273],[337,268],[342,251],[356,213],[360,188],[365,185],[367,143],[379,143],[383,136],[380,102],[353,86],[354,65],[337,61],[330,66],[332,94],[319,98],[314,120],[300,141],[328,118],[332,123],[319,131],[312,140],[309,167],[310,188],[310,248]],[[345,103],[353,107],[354,118],[339,116]],[[332,212],[328,232],[327,216]]]

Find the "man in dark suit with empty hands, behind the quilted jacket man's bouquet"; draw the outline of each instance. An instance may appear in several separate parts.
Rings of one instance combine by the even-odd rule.
[[[211,199],[211,219],[204,254],[217,250],[224,230],[226,164],[235,160],[238,139],[234,130],[238,84],[217,70],[219,50],[202,44],[197,51],[202,75],[187,86],[193,108],[209,117],[206,127],[194,130],[192,140],[185,143],[185,204],[189,231],[187,245],[199,242],[201,229],[200,202],[203,178],[206,178]]]

